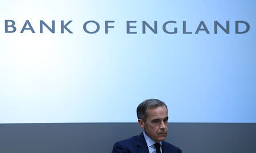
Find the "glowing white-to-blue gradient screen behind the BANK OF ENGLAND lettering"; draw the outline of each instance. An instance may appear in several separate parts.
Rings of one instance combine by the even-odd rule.
[[[170,122],[256,122],[256,1],[1,1],[0,123],[136,122],[146,98],[166,102]],[[5,33],[5,20],[17,31]],[[35,34],[20,30],[30,20]],[[39,20],[51,25],[39,33]],[[60,34],[73,20],[73,34]],[[86,34],[87,20],[100,23]],[[105,34],[105,20],[114,28]],[[138,34],[126,34],[137,20]],[[146,30],[142,20],[158,34]],[[162,25],[176,20],[170,30]],[[182,22],[187,21],[184,35]],[[204,20],[210,34],[195,34]],[[214,20],[230,34],[218,30]],[[235,21],[250,24],[235,34]],[[93,30],[95,27],[90,27]],[[244,27],[241,26],[241,30]]]

